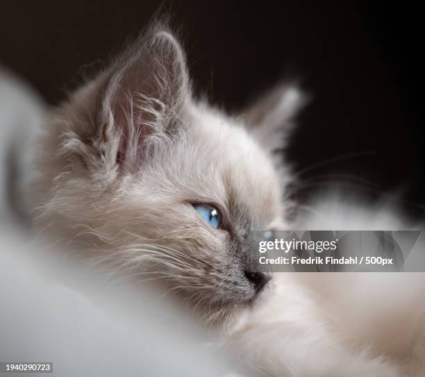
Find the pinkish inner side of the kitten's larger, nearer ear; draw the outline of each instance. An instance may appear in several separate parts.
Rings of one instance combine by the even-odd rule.
[[[106,90],[119,136],[118,160],[138,167],[146,159],[153,133],[167,127],[168,110],[188,94],[183,51],[169,33],[158,32],[117,64]]]

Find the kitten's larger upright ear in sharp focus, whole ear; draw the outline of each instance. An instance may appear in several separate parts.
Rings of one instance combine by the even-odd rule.
[[[149,143],[176,127],[190,84],[185,54],[169,31],[151,30],[104,74],[96,137],[113,150],[117,164],[137,168]]]

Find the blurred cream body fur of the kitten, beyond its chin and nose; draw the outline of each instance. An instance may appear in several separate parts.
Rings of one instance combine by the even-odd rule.
[[[322,198],[313,208],[299,226],[406,226],[390,209],[359,200]],[[425,249],[425,237],[419,245]],[[260,376],[424,376],[424,293],[422,273],[278,273],[271,298],[229,342]]]

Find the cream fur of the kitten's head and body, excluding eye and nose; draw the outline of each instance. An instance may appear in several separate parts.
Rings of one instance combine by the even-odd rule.
[[[399,226],[352,206],[288,221],[291,177],[272,155],[302,103],[281,86],[228,117],[192,97],[183,49],[155,26],[47,115],[35,231],[91,267],[155,283],[222,329],[253,374],[423,375],[422,276],[283,274],[259,300],[244,277],[253,229]],[[227,231],[191,203],[217,206]]]

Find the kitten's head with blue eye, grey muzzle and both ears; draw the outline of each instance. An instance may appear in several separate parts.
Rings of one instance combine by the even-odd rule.
[[[300,103],[282,86],[225,115],[192,96],[181,45],[151,28],[49,116],[35,224],[228,323],[270,278],[254,231],[285,224],[273,152]]]

